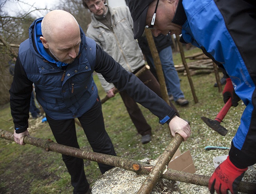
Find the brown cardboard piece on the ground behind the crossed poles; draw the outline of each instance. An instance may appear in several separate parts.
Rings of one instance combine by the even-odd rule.
[[[171,159],[168,168],[189,173],[196,172],[195,165],[193,163],[192,156],[189,150],[181,154],[180,149],[178,149],[173,155],[173,158]]]

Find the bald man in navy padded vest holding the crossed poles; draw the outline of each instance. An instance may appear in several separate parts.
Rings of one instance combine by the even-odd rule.
[[[94,152],[116,155],[104,127],[100,98],[93,81],[94,71],[148,108],[158,116],[161,124],[167,122],[172,135],[179,133],[184,140],[190,136],[188,123],[95,41],[85,37],[70,13],[54,10],[36,19],[29,28],[29,36],[20,44],[9,91],[17,144],[24,145],[23,138],[29,135],[28,110],[34,83],[37,100],[59,144],[79,148],[74,122],[74,118],[78,118]],[[91,193],[83,160],[67,155],[62,158],[71,176],[73,193]],[[113,168],[98,165],[102,174]]]

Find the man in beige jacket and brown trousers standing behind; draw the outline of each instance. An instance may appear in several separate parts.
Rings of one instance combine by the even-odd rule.
[[[143,68],[145,61],[139,44],[133,38],[133,20],[129,8],[126,6],[112,8],[105,4],[105,0],[83,0],[83,6],[93,13],[91,24],[86,32],[87,37],[94,39],[127,71],[135,74]],[[114,97],[115,86],[113,83],[108,83],[101,74],[98,74],[98,77],[107,96]],[[149,70],[143,73],[139,79],[161,97],[160,85]],[[150,142],[151,127],[137,103],[126,92],[120,91],[120,95],[132,122],[142,136],[142,144]],[[179,115],[172,103],[171,106]]]

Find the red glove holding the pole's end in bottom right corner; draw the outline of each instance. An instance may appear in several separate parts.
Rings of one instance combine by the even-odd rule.
[[[237,185],[243,178],[245,171],[248,168],[237,168],[228,158],[221,163],[211,176],[208,187],[210,193],[213,194],[216,190],[217,194],[227,194],[228,189],[232,194],[237,194]]]

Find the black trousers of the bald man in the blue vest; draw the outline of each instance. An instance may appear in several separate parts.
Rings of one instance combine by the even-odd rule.
[[[78,119],[94,152],[116,155],[111,139],[105,130],[101,102],[98,99],[95,105]],[[47,115],[46,118],[59,144],[79,148],[74,119],[54,120]],[[89,183],[85,176],[83,159],[68,155],[62,155],[62,159],[71,176],[74,194],[85,193],[89,189]],[[113,168],[113,166],[100,163],[98,166],[102,174]]]

